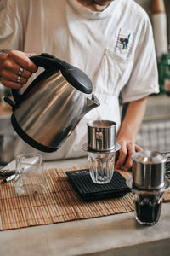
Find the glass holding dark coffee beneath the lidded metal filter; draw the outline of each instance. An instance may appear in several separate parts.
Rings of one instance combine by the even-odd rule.
[[[135,218],[139,224],[154,225],[161,215],[164,192],[141,191],[133,189]]]

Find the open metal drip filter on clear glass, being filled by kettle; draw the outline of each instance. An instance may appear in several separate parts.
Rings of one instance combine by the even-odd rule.
[[[88,152],[88,166],[94,183],[111,182],[114,172],[116,151],[116,123],[111,120],[94,120],[87,124],[88,143],[82,149]]]

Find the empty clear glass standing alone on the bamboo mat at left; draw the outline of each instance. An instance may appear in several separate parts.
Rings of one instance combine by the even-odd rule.
[[[40,195],[46,188],[42,155],[20,154],[16,157],[15,190],[18,195]]]

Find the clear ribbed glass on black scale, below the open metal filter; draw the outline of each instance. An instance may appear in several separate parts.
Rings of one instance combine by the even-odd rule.
[[[94,153],[88,152],[88,166],[94,183],[110,183],[113,177],[116,152]]]

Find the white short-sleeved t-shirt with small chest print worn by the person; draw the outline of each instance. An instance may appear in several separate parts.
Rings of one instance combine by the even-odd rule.
[[[131,102],[159,92],[150,20],[133,0],[115,0],[102,12],[77,0],[8,0],[0,13],[0,49],[47,52],[92,80],[99,108],[87,113],[61,148],[44,154],[45,159],[85,154],[89,120],[113,120],[118,131],[120,93],[122,102]],[[15,154],[23,151],[32,148],[19,140]]]

